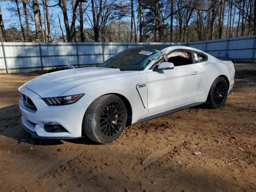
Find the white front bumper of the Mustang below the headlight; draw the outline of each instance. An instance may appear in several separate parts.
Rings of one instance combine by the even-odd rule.
[[[73,139],[82,136],[82,120],[86,109],[93,101],[90,96],[84,95],[77,102],[70,105],[48,106],[40,96],[22,86],[19,91],[28,96],[36,111],[27,108],[20,99],[19,107],[22,114],[22,126],[36,138]],[[55,122],[62,125],[66,132],[46,132],[44,122]]]

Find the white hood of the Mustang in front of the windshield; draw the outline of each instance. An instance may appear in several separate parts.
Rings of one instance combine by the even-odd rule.
[[[79,86],[97,80],[115,78],[120,76],[138,74],[138,71],[120,71],[114,68],[86,67],[62,70],[38,76],[23,86],[32,90],[40,97],[56,97],[62,93]],[[81,91],[82,93],[83,91]]]

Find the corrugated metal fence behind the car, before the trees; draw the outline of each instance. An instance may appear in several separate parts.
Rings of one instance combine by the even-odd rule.
[[[233,60],[255,60],[255,36],[229,39],[207,40],[182,44],[198,48],[213,56],[229,56]],[[76,67],[94,66],[110,56],[137,46],[148,44],[178,43],[14,43],[2,42],[0,45],[0,73],[24,73],[47,70],[51,67],[74,65]]]

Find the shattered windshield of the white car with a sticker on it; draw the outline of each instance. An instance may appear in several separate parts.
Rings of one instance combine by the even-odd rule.
[[[158,58],[161,51],[157,49],[127,49],[115,54],[99,67],[119,68],[124,71],[140,71],[155,58]]]

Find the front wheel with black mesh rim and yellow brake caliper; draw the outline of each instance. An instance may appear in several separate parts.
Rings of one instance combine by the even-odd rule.
[[[95,142],[109,143],[120,136],[127,120],[127,109],[122,99],[114,94],[94,100],[84,114],[83,129]]]

